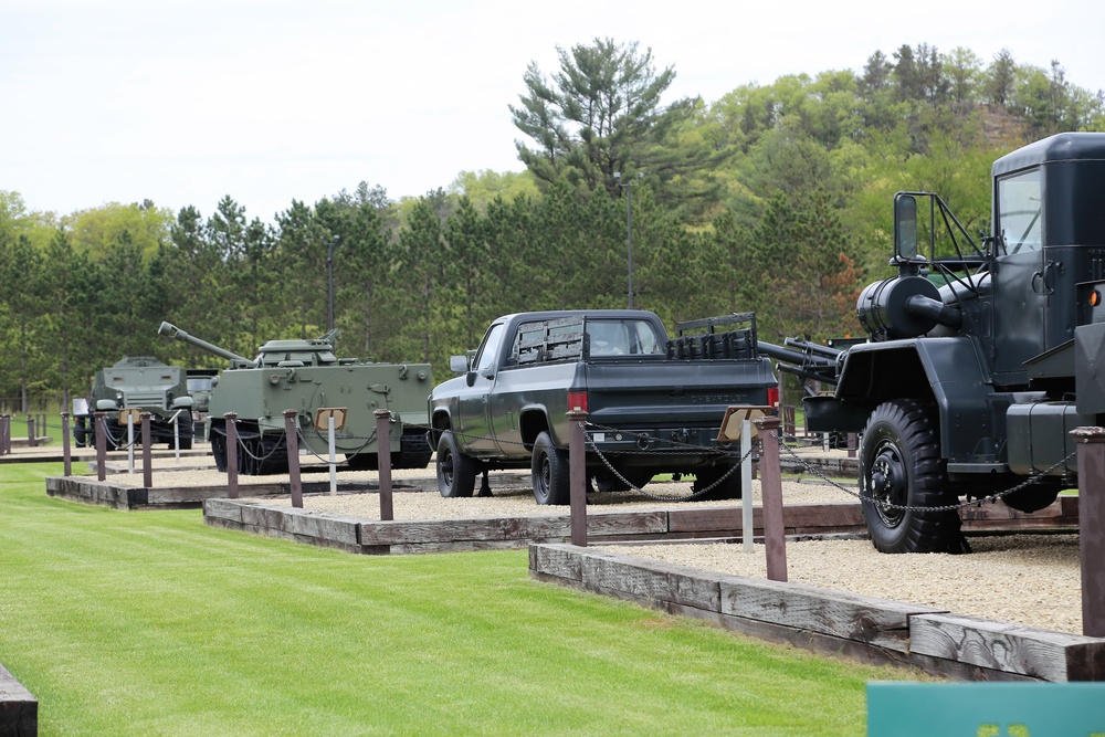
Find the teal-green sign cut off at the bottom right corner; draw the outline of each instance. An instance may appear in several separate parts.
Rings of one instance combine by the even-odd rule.
[[[1105,737],[1105,683],[869,683],[867,737]]]

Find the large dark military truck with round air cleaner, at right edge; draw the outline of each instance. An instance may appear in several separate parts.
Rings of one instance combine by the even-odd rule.
[[[1071,430],[1105,420],[1105,134],[1014,150],[991,180],[978,242],[936,193],[895,196],[897,274],[859,297],[866,343],[775,354],[835,385],[803,400],[807,425],[861,433],[863,515],[884,552],[968,550],[961,498],[1050,505],[1077,482]]]

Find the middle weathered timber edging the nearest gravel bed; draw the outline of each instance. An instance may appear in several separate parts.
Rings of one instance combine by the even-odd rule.
[[[909,618],[945,610],[800,583],[720,576],[722,613],[908,652]]]

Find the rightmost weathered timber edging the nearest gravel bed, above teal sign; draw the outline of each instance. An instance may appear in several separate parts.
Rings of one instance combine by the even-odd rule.
[[[911,650],[1044,681],[1105,681],[1105,640],[959,614],[913,618]]]

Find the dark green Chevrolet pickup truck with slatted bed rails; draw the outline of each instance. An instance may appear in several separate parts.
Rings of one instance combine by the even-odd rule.
[[[639,309],[494,320],[478,349],[450,359],[463,376],[429,398],[441,495],[471,496],[481,473],[528,466],[538,504],[567,504],[570,406],[588,412],[589,487],[639,488],[671,473],[693,475],[696,498],[738,498],[738,453],[717,441],[725,410],[779,397],[770,359],[757,349],[756,316],[676,329],[670,338],[655,314]]]

